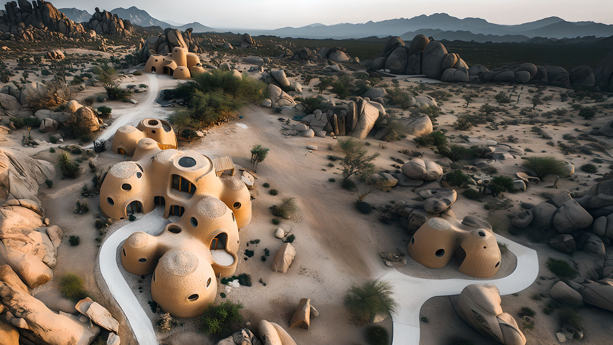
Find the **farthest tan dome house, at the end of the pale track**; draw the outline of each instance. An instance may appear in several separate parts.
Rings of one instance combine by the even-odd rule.
[[[189,79],[204,73],[200,58],[186,48],[174,47],[166,55],[149,56],[145,64],[145,72],[168,74],[175,79]]]

